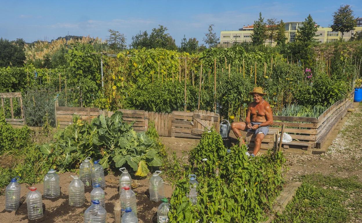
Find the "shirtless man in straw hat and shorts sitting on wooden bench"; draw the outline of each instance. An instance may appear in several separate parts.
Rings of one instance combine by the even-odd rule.
[[[249,104],[245,122],[233,122],[231,129],[235,136],[239,137],[241,143],[244,144],[245,141],[240,130],[255,133],[253,153],[249,154],[247,152],[247,155],[255,156],[260,150],[261,141],[269,131],[269,125],[273,124],[273,112],[270,104],[263,98],[266,93],[263,92],[261,87],[254,87],[249,94],[253,95],[254,102]]]

